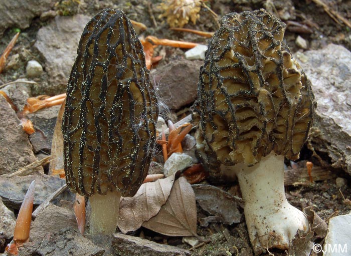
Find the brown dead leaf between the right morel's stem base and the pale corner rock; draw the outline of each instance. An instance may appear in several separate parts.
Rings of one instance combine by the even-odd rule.
[[[297,230],[294,238],[290,242],[288,255],[308,256],[313,247],[313,232],[304,232]]]

